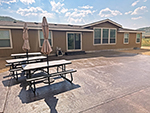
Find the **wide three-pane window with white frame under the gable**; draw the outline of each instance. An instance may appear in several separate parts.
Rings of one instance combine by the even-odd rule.
[[[113,28],[95,28],[94,44],[115,44],[116,29]]]

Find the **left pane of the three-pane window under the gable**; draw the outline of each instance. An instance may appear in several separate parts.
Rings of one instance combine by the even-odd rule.
[[[94,30],[94,44],[101,43],[101,29]]]

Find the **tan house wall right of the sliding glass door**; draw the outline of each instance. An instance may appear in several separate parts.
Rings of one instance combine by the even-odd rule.
[[[136,42],[136,33],[129,34],[129,44],[124,44],[124,33],[117,33],[116,44],[93,45],[93,33],[82,33],[82,48],[84,51],[103,50],[103,49],[123,49],[141,47],[141,43]],[[142,35],[141,35],[142,38]]]

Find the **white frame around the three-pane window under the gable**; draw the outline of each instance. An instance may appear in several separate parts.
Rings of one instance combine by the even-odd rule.
[[[97,46],[97,45],[116,45],[116,43],[117,43],[117,29],[116,29],[116,28],[94,27],[93,29],[94,29],[94,30],[95,30],[95,29],[101,29],[101,43],[100,43],[100,44],[95,44],[95,43],[94,43],[94,37],[95,37],[94,35],[95,35],[95,33],[94,33],[94,30],[93,30],[93,45],[94,45],[94,46]],[[102,40],[103,40],[103,29],[109,29],[108,43],[102,43]],[[111,30],[111,29],[116,30],[115,43],[110,43],[110,30]]]

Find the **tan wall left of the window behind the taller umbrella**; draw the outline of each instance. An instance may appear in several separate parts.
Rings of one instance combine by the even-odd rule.
[[[12,53],[22,53],[23,38],[22,34],[23,30],[12,29],[11,30],[11,38],[12,38],[12,48],[10,49],[0,49],[0,56],[10,56]],[[38,32],[37,30],[29,30],[29,43],[30,43],[30,51],[36,52],[40,51],[39,43],[38,43]]]

